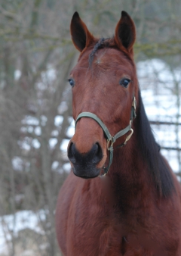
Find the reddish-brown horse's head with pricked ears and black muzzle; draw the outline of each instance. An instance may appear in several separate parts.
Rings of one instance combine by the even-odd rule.
[[[133,125],[133,120],[130,121],[133,99],[137,100],[138,97],[137,73],[133,62],[136,30],[133,20],[122,11],[115,27],[115,36],[97,39],[75,12],[70,32],[80,56],[69,76],[72,113],[74,119],[78,120],[75,135],[68,145],[68,157],[75,175],[88,179],[102,173],[109,161],[110,146],[113,150],[117,145],[124,144],[130,132],[127,129],[116,141],[110,139],[107,142],[105,131],[96,119],[103,122],[111,136]],[[82,112],[96,117],[80,117]]]

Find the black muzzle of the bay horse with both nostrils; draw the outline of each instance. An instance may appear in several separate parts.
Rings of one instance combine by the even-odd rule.
[[[75,147],[75,143],[70,143],[68,148],[68,158],[72,162],[73,172],[76,176],[84,179],[99,176],[100,169],[97,164],[103,158],[103,151],[99,143],[95,143],[87,153],[81,154]]]

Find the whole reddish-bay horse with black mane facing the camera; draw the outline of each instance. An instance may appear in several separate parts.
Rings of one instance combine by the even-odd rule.
[[[122,11],[115,36],[97,39],[75,12],[70,32],[80,57],[69,76],[76,127],[68,145],[72,172],[57,201],[61,251],[180,256],[181,187],[146,117],[133,20]]]

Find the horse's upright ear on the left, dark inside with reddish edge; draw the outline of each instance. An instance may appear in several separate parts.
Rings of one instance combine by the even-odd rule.
[[[73,14],[70,23],[70,33],[75,48],[77,48],[80,52],[82,52],[85,47],[94,41],[94,36],[90,34],[89,30],[87,30],[85,23],[81,20],[77,11],[75,11],[75,14]]]

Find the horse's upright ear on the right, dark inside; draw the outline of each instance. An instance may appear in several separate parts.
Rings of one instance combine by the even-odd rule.
[[[121,19],[115,28],[115,42],[124,52],[133,54],[133,44],[136,39],[136,29],[130,15],[121,12]]]

